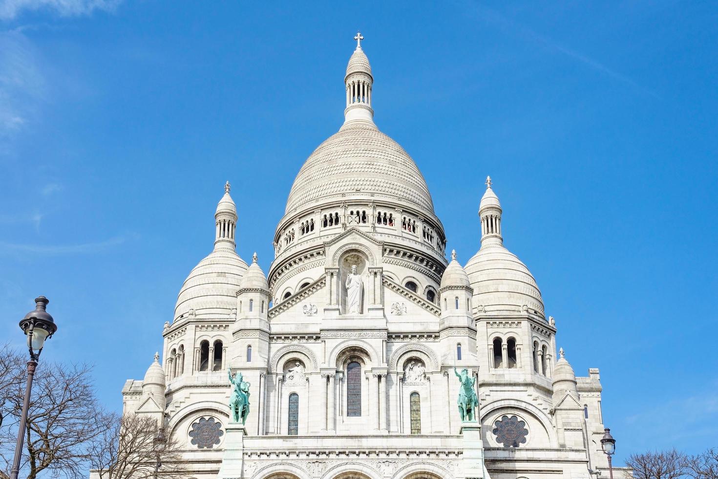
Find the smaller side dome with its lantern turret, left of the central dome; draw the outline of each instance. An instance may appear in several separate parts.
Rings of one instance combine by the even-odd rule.
[[[229,315],[236,308],[236,293],[247,264],[235,251],[237,207],[229,191],[227,182],[215,212],[215,248],[182,284],[174,307],[175,321],[187,316]]]

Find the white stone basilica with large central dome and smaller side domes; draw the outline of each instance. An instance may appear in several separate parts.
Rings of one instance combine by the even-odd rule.
[[[227,184],[214,249],[180,289],[162,363],[126,382],[124,412],[157,417],[195,479],[607,477],[599,371],[577,378],[556,359],[491,180],[480,248],[448,261],[424,177],[374,124],[355,39],[345,122],[299,169],[269,275],[236,253]],[[454,366],[476,378],[473,425]],[[251,383],[246,429],[230,424],[228,368]]]

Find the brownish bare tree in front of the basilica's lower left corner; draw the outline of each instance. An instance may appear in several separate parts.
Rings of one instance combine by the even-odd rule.
[[[90,448],[90,468],[100,479],[186,478],[174,437],[157,441],[157,419],[136,414],[114,417]]]

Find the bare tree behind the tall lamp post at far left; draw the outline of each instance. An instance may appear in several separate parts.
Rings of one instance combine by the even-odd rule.
[[[25,392],[22,381],[9,388],[6,407],[9,417],[1,428],[4,469],[11,462],[17,437],[17,420],[22,414]],[[32,385],[27,411],[27,431],[21,468],[24,477],[39,473],[50,478],[83,478],[88,445],[107,428],[107,414],[98,404],[90,367],[40,362]],[[3,478],[0,473],[0,478]]]

